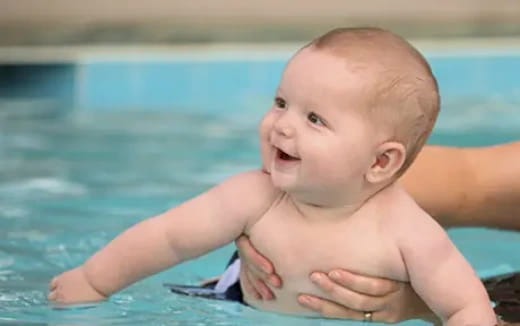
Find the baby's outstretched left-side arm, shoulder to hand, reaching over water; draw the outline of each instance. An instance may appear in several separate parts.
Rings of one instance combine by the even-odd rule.
[[[273,196],[270,178],[263,172],[231,177],[124,231],[82,266],[54,278],[49,299],[99,301],[146,276],[229,243],[268,209]]]

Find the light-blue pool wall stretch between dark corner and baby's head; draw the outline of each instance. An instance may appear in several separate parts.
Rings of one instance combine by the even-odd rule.
[[[277,61],[85,64],[81,107],[201,112],[242,110],[271,101],[284,64]]]

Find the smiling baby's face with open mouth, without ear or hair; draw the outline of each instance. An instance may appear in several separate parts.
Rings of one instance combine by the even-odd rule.
[[[260,124],[262,163],[275,186],[318,196],[361,184],[378,144],[360,114],[362,81],[323,50],[304,49],[288,63]]]

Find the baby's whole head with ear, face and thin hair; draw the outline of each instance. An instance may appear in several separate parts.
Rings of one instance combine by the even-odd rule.
[[[357,185],[353,191],[388,184],[424,145],[439,101],[428,63],[402,38],[332,30],[299,50],[282,75],[260,128],[264,167],[281,187],[296,176]]]

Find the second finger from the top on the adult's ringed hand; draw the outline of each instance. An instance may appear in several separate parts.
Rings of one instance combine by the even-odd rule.
[[[332,281],[325,273],[312,273],[311,281],[327,293],[331,300],[348,309],[379,311],[383,310],[387,305],[385,297],[368,296],[352,291]]]

